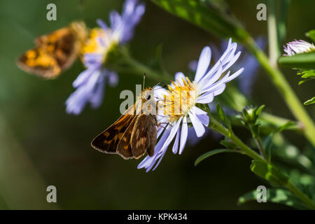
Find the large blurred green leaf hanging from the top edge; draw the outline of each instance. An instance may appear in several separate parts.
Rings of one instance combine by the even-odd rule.
[[[235,38],[244,43],[249,37],[248,33],[241,28],[235,18],[229,17],[228,13],[216,10],[209,3],[202,0],[151,0],[161,8],[167,10],[179,18],[197,25],[211,34],[223,38]]]

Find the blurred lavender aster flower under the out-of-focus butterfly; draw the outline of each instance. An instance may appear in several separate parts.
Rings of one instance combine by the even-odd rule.
[[[144,4],[138,3],[138,0],[126,0],[121,15],[111,12],[110,27],[97,20],[100,28],[90,31],[90,38],[82,49],[86,69],[73,81],[76,90],[66,100],[67,113],[79,114],[87,103],[97,108],[102,104],[106,83],[112,87],[118,84],[117,73],[104,68],[104,64],[110,52],[130,41],[144,11]]]

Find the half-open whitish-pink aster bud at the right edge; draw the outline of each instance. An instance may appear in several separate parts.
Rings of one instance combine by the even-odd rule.
[[[315,50],[314,43],[308,43],[307,41],[303,40],[294,40],[285,45],[283,45],[283,50],[286,52],[286,54],[283,54],[283,56],[292,56],[295,54],[300,54],[304,52],[311,52]]]

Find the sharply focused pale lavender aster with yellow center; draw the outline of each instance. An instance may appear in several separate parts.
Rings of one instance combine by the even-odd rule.
[[[159,123],[167,123],[167,125],[158,127],[158,138],[160,138],[155,146],[154,155],[144,158],[138,168],[146,168],[148,172],[158,167],[174,139],[173,153],[183,153],[188,139],[188,123],[193,125],[197,137],[202,137],[206,132],[205,126],[209,125],[209,116],[196,104],[211,103],[216,95],[225,90],[225,83],[239,76],[244,70],[241,68],[232,75],[228,71],[241,53],[235,54],[236,50],[237,43],[232,43],[230,39],[221,58],[209,69],[211,49],[205,47],[197,63],[193,82],[179,72],[175,75],[175,82],[169,85],[169,90],[155,91],[156,97],[162,99],[160,101],[162,105],[159,104]],[[162,110],[160,106],[162,106]]]

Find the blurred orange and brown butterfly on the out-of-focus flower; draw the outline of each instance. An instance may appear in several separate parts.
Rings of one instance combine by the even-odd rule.
[[[80,55],[87,38],[84,22],[72,22],[68,27],[35,39],[36,47],[18,59],[20,69],[43,78],[57,78]]]

